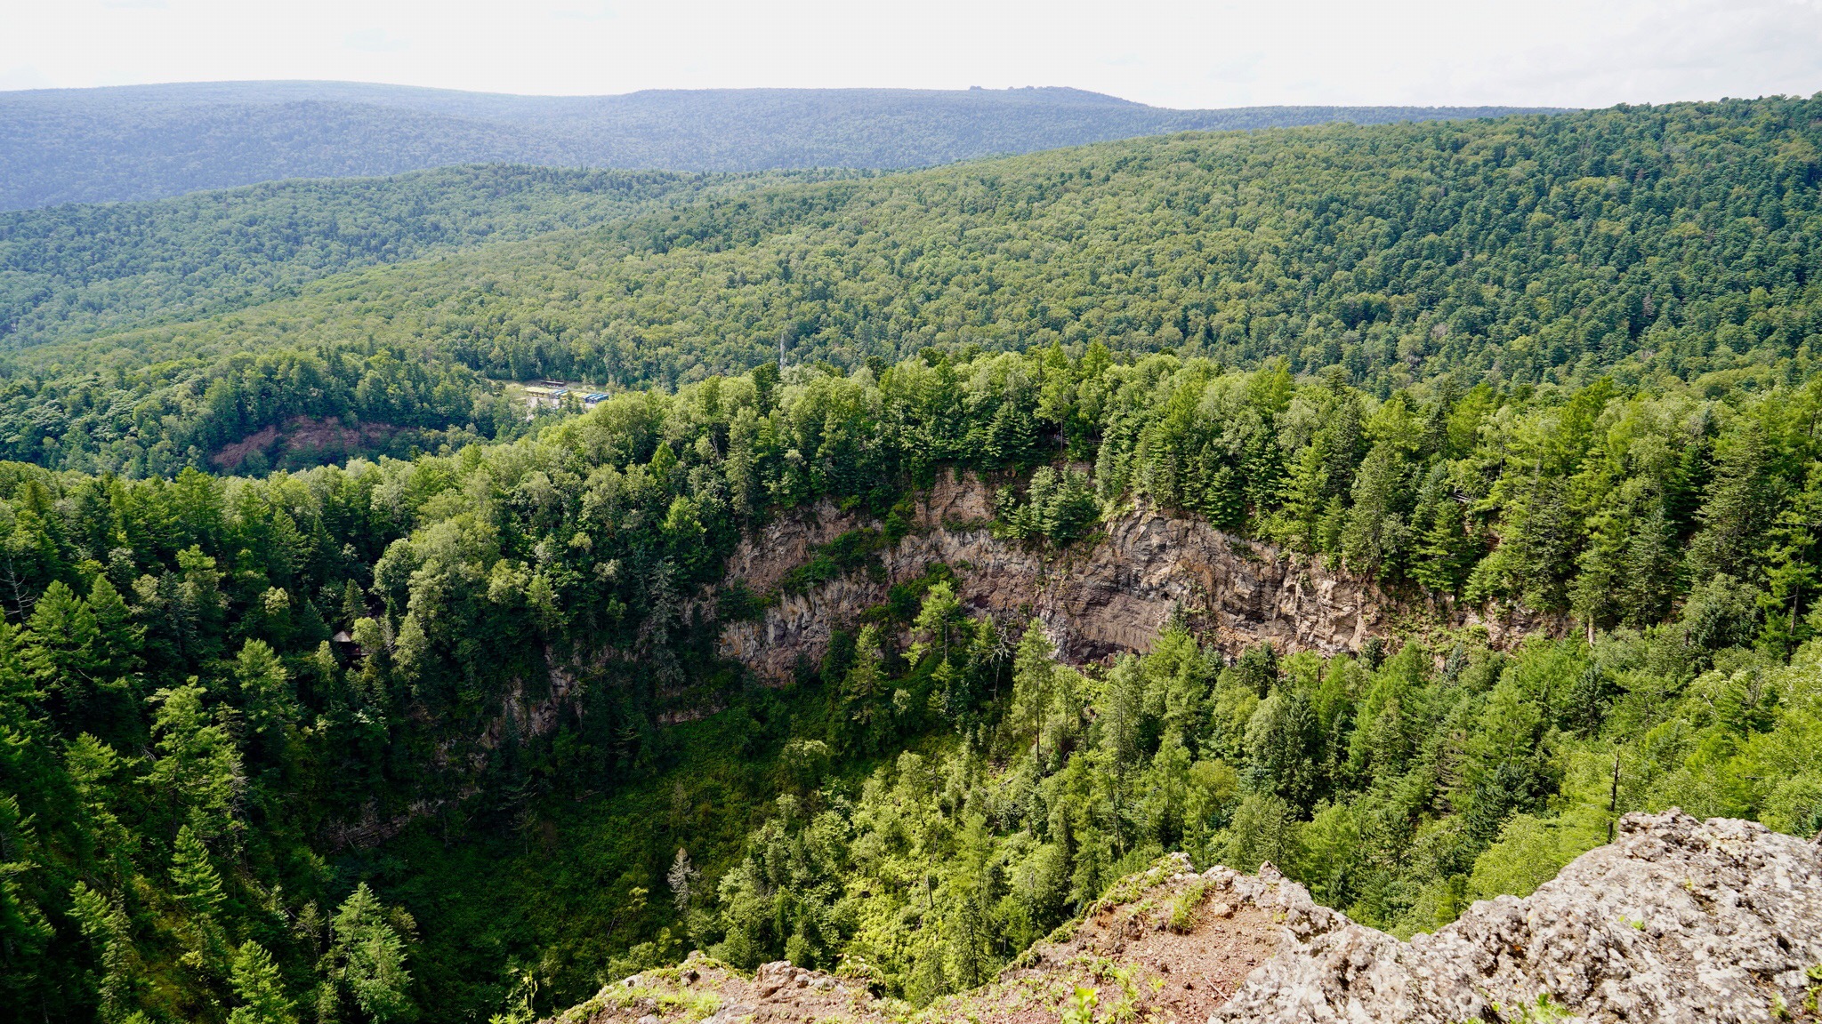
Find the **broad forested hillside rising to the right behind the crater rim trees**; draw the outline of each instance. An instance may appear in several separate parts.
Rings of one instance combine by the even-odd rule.
[[[434,408],[414,426],[490,437],[490,379],[674,386],[780,341],[836,366],[1051,341],[1281,355],[1381,395],[1438,374],[1731,386],[1791,372],[1817,332],[1818,102],[1181,135],[712,195],[38,344],[4,366],[0,452],[169,474],[397,395]]]

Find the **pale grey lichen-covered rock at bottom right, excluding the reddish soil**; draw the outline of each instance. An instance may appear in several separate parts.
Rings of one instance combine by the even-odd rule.
[[[1530,896],[1474,904],[1436,935],[1407,944],[1336,918],[1294,935],[1210,1022],[1758,1024],[1804,1015],[1822,847],[1753,822],[1627,814],[1616,842]]]

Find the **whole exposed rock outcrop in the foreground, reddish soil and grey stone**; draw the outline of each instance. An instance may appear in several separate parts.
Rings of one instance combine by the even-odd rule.
[[[1073,993],[1095,1020],[1465,1024],[1817,1020],[1822,844],[1680,811],[1627,814],[1527,898],[1474,904],[1399,942],[1310,900],[1270,864],[1193,873],[1182,855],[1122,878],[993,982],[913,1011],[845,977],[700,955],[647,971],[563,1024],[1051,1024]]]

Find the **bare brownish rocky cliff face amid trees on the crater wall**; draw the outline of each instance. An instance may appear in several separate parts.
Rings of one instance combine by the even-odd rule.
[[[973,476],[938,479],[918,496],[915,510],[916,530],[882,556],[884,579],[855,572],[807,594],[780,594],[763,620],[727,627],[722,652],[760,678],[789,680],[800,660],[822,658],[834,629],[884,601],[893,583],[938,561],[955,570],[957,596],[971,609],[1020,621],[1040,618],[1073,661],[1150,649],[1173,609],[1223,649],[1268,640],[1281,652],[1325,654],[1357,650],[1368,636],[1387,630],[1394,609],[1372,583],[1146,507],[1115,517],[1093,543],[1064,552],[995,538],[986,527],[993,516],[989,492]],[[829,503],[778,519],[740,545],[727,579],[774,592],[816,545],[862,525]],[[1443,614],[1478,621],[1472,614]],[[1485,625],[1498,643],[1554,623],[1523,618]]]

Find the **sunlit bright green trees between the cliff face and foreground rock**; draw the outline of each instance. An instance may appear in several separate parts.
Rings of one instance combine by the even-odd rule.
[[[920,625],[944,607],[933,590]],[[1272,862],[1410,935],[1529,895],[1633,809],[1822,829],[1822,643],[1787,667],[1716,654],[1698,614],[1592,645],[1407,641],[1328,661],[1270,647],[1228,661],[1173,627],[1086,676],[1051,661],[1039,621],[993,660],[995,627],[977,620],[962,674],[1002,691],[960,714],[940,700],[957,656],[935,627],[898,680],[880,678],[869,629],[831,732],[865,743],[898,707],[960,736],[778,796],[718,904],[685,926],[740,966],[787,957],[926,1004],[991,980],[1166,851]],[[896,701],[871,696],[884,691]]]

